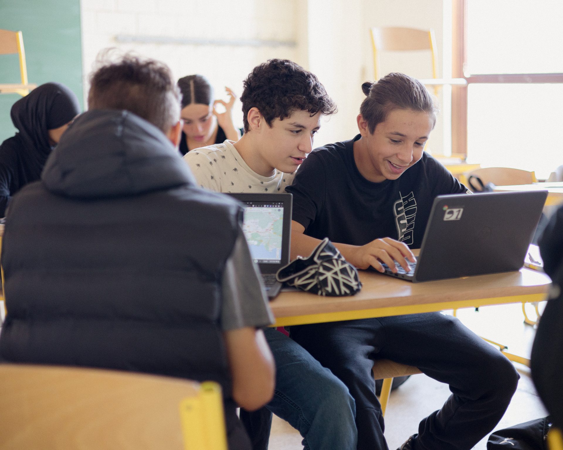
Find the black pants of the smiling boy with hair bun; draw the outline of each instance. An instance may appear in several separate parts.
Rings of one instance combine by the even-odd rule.
[[[518,373],[499,350],[441,313],[293,326],[291,336],[356,400],[359,450],[388,448],[373,359],[418,367],[450,385],[444,406],[420,422],[419,450],[472,448],[497,425],[518,384]]]

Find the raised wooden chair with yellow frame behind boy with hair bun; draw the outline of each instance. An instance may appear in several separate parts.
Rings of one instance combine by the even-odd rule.
[[[379,53],[396,51],[430,50],[432,62],[432,78],[436,75],[436,38],[434,30],[419,30],[415,28],[401,28],[395,26],[375,27],[370,29],[373,50],[373,71],[375,79],[379,74]],[[434,86],[437,95],[438,87]]]

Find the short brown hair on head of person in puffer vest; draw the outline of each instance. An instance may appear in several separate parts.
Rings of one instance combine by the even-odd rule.
[[[178,122],[181,94],[166,64],[131,54],[110,61],[105,52],[97,65],[90,76],[89,109],[131,111],[164,133]]]

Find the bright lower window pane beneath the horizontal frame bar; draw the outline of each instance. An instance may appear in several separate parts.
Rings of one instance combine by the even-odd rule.
[[[471,84],[468,158],[482,167],[535,170],[563,164],[563,84]]]

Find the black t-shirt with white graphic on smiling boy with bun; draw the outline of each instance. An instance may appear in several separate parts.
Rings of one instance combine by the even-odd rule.
[[[293,194],[293,220],[316,239],[364,245],[392,237],[420,248],[434,198],[467,188],[426,152],[396,180],[368,181],[354,161],[359,138],[319,147],[303,161],[286,188]]]

